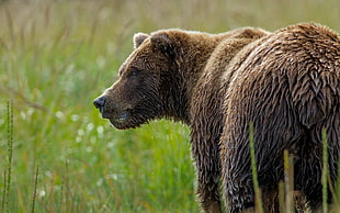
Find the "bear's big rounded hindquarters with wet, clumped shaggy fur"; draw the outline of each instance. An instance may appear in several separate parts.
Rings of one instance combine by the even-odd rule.
[[[263,195],[283,179],[283,150],[294,156],[295,190],[321,201],[321,131],[328,135],[329,175],[340,150],[340,40],[326,27],[301,24],[251,44],[226,72],[220,157],[231,212],[253,205],[248,124],[253,122]],[[240,155],[241,153],[241,155]]]

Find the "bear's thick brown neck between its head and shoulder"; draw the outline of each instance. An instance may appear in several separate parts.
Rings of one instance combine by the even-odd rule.
[[[167,108],[169,108],[166,110],[169,113],[167,116],[175,121],[182,121],[185,124],[190,124],[190,105],[193,90],[213,51],[223,40],[222,36],[208,34],[202,36],[204,37],[195,35],[184,40],[184,43],[177,44],[179,52],[174,61],[177,66],[172,79],[174,83],[171,83],[172,88],[168,88],[169,94],[167,97],[170,98],[166,103]]]

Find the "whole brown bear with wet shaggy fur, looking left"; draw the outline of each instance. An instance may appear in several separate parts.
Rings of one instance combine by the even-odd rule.
[[[248,125],[253,123],[265,211],[279,211],[283,150],[294,159],[294,189],[321,202],[322,141],[330,186],[340,150],[340,38],[318,24],[269,33],[163,30],[134,36],[120,79],[94,105],[117,128],[168,117],[188,124],[205,212],[220,212],[219,180],[230,212],[254,206]],[[330,193],[328,193],[330,194]],[[331,201],[331,197],[329,198]],[[268,206],[268,208],[267,208]],[[273,208],[274,206],[274,208]]]

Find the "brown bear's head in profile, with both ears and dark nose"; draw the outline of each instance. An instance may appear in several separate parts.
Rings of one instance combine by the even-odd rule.
[[[173,42],[157,32],[134,36],[134,52],[118,70],[118,80],[94,100],[104,119],[120,130],[167,116],[167,96],[175,81]]]

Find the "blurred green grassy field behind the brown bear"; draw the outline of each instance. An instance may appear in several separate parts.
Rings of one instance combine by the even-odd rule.
[[[189,128],[120,132],[92,105],[133,34],[339,20],[339,0],[0,1],[0,212],[197,212]]]

